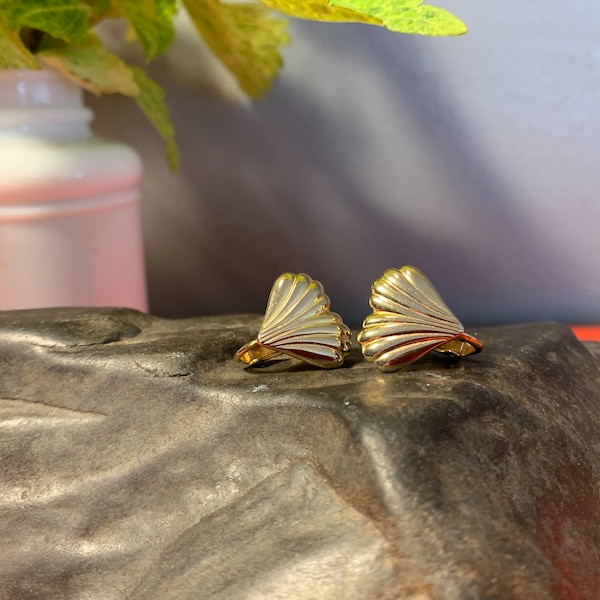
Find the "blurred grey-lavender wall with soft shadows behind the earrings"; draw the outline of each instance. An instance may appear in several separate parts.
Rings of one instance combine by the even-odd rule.
[[[600,321],[600,3],[437,4],[469,33],[293,22],[252,104],[182,24],[150,70],[176,175],[132,101],[90,99],[146,164],[154,314],[262,312],[304,271],[356,325],[372,280],[414,264],[466,323]]]

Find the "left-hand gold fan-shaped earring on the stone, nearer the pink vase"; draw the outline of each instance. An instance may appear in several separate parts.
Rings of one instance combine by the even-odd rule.
[[[256,339],[234,358],[248,367],[286,356],[324,369],[339,367],[350,352],[351,333],[329,307],[318,281],[304,273],[280,275]]]

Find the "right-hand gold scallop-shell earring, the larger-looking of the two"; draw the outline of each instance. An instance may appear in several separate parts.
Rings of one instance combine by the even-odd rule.
[[[364,320],[358,341],[366,360],[382,371],[395,371],[432,350],[468,356],[483,346],[416,267],[388,269],[371,287],[373,312]]]

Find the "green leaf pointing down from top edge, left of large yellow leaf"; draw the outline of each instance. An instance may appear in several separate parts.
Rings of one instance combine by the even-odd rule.
[[[117,0],[144,50],[146,61],[162,54],[173,41],[176,0]]]

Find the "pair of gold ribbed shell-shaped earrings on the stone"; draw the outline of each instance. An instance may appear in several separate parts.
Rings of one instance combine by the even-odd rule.
[[[373,312],[358,334],[363,356],[382,371],[395,371],[435,350],[459,357],[481,352],[464,332],[433,284],[416,267],[388,269],[371,286]],[[323,286],[304,273],[280,275],[271,290],[255,340],[235,354],[251,367],[284,355],[325,369],[350,352],[351,332],[330,310]]]

